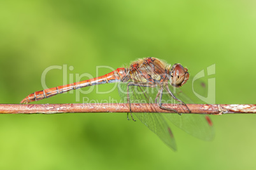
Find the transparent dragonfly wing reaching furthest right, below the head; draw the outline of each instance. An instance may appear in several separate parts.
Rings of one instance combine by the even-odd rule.
[[[174,93],[174,95],[183,101],[184,103],[204,103],[199,100],[195,93],[205,95],[207,94],[206,87],[208,84],[198,81],[194,83],[194,91],[192,89],[191,81],[188,84],[182,86],[181,88],[173,88],[169,85],[169,89]],[[195,91],[197,90],[197,91]],[[189,97],[188,97],[189,96]],[[165,94],[163,98],[170,99],[170,96]],[[192,98],[192,99],[191,99]],[[174,101],[173,103],[177,103]],[[166,118],[171,121],[178,128],[183,129],[188,134],[195,136],[201,140],[212,140],[215,136],[213,123],[208,115],[199,114],[164,114]]]

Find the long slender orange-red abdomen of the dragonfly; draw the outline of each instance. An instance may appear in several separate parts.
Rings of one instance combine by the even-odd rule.
[[[126,69],[118,68],[113,72],[105,74],[100,77],[96,77],[93,79],[89,79],[86,81],[74,82],[72,84],[67,84],[64,86],[57,86],[55,88],[44,89],[42,91],[36,91],[28,95],[24,100],[20,101],[20,103],[30,103],[32,101],[42,100],[44,98],[49,98],[67,91],[71,91],[73,89],[80,89],[87,86],[94,86],[97,84],[105,84],[111,82],[120,82],[126,75]]]

